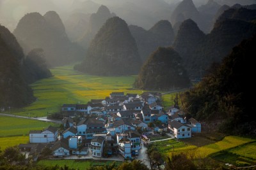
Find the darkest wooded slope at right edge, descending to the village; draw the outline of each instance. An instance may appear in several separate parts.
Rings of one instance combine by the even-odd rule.
[[[252,134],[256,93],[249,75],[255,72],[255,44],[256,36],[244,40],[220,65],[212,64],[207,76],[181,95],[182,108],[202,122],[215,122],[221,132]]]

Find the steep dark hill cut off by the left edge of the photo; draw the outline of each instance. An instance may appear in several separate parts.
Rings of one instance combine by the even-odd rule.
[[[3,38],[2,38],[3,37]],[[0,107],[22,107],[35,98],[23,78],[22,49],[15,37],[0,25]]]

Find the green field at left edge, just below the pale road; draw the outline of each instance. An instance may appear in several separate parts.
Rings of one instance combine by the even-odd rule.
[[[26,118],[0,116],[0,137],[27,136],[30,130],[42,130],[49,125],[55,124]]]

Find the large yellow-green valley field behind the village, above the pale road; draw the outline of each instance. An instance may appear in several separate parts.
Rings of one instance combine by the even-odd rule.
[[[141,94],[132,89],[136,76],[91,76],[74,71],[73,66],[51,69],[51,78],[36,81],[31,85],[37,100],[22,110],[12,110],[15,115],[45,117],[60,110],[62,104],[86,104],[91,99],[104,99],[111,92]],[[6,111],[8,112],[8,111]]]

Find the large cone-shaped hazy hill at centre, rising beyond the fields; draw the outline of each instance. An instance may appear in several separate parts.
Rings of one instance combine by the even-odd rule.
[[[109,18],[92,40],[84,61],[75,68],[85,73],[120,76],[138,74],[141,59],[124,20]]]

